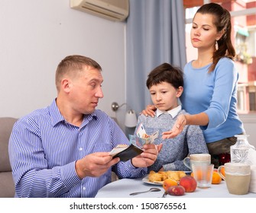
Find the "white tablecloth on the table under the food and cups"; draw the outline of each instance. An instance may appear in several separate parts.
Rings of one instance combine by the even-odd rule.
[[[157,187],[160,192],[146,192],[137,196],[130,196],[132,192],[147,191],[151,187]],[[142,178],[122,179],[107,184],[99,190],[96,198],[160,198],[164,194],[163,186],[145,183]],[[168,197],[167,195],[166,197]],[[169,196],[170,197],[170,196]],[[172,198],[256,198],[256,193],[248,192],[246,195],[232,195],[228,192],[225,181],[220,184],[212,184],[210,188],[196,188],[195,192],[186,192],[184,196],[171,196]]]

